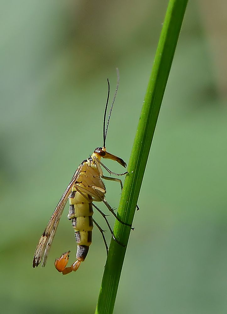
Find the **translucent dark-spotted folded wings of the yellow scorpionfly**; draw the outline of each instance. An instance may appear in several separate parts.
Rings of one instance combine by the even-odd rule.
[[[72,186],[78,177],[81,167],[82,167],[82,164],[78,167],[78,169],[74,173],[72,180],[70,181],[65,192],[62,194],[62,197],[60,201],[58,202],[46,226],[46,229],[43,231],[43,234],[41,235],[41,238],[36,246],[35,254],[33,257],[33,263],[32,263],[33,268],[37,267],[41,263],[42,258],[43,258],[42,266],[46,265],[47,255],[49,253],[53,238],[55,236],[57,226],[59,224],[59,220],[62,216],[62,212],[64,210],[65,204],[67,203]]]

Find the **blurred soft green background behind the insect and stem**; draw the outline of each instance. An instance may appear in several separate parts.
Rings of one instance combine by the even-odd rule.
[[[116,67],[107,149],[128,162],[166,6],[1,2],[1,313],[94,312],[106,258],[96,228],[79,271],[57,273],[62,252],[75,260],[67,205],[46,267],[33,269],[32,258],[74,170],[102,145]],[[227,312],[226,12],[224,0],[188,4],[115,313]],[[117,207],[118,184],[106,187]]]

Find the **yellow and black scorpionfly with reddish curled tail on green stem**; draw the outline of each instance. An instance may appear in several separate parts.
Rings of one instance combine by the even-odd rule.
[[[115,214],[113,208],[109,205],[109,203],[105,199],[105,185],[102,179],[111,180],[119,182],[122,189],[122,181],[118,178],[104,176],[101,166],[108,171],[111,175],[123,176],[127,174],[127,172],[117,174],[115,172],[110,171],[102,162],[101,158],[111,159],[117,161],[123,167],[127,167],[127,164],[123,159],[112,155],[106,151],[105,142],[106,135],[108,131],[108,126],[110,122],[111,112],[113,108],[113,104],[116,98],[117,89],[119,86],[119,73],[117,71],[117,87],[115,90],[114,98],[111,104],[110,113],[108,116],[108,120],[105,126],[106,121],[106,113],[110,96],[110,82],[107,79],[108,84],[108,93],[107,100],[104,111],[104,119],[103,119],[103,146],[98,147],[94,150],[93,154],[84,160],[77,170],[75,171],[68,187],[63,193],[60,201],[57,204],[44,232],[41,235],[41,238],[36,246],[35,254],[33,258],[33,268],[37,267],[41,261],[42,266],[46,265],[46,259],[55,236],[57,226],[59,220],[62,216],[63,209],[69,199],[69,213],[68,219],[72,222],[72,227],[75,232],[75,238],[77,243],[77,253],[76,253],[76,261],[70,266],[67,267],[69,253],[70,251],[63,253],[61,257],[57,258],[55,261],[55,268],[62,273],[63,275],[71,273],[72,271],[76,271],[80,263],[83,262],[88,254],[89,246],[92,242],[92,229],[93,223],[100,230],[101,235],[103,237],[106,252],[108,253],[108,246],[104,236],[104,230],[97,224],[97,222],[92,217],[93,215],[93,207],[98,210],[98,212],[103,216],[105,222],[108,226],[108,229],[111,232],[111,236],[121,244],[114,236],[114,233],[111,229],[111,226],[105,215],[93,202],[103,202],[105,206],[109,209],[109,211],[115,216],[115,218],[120,221],[122,224],[130,226],[127,223],[122,222],[117,215]]]

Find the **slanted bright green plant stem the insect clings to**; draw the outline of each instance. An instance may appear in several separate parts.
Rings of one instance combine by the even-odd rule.
[[[125,179],[118,209],[118,217],[129,224],[132,224],[135,214],[151,142],[154,136],[154,130],[181,30],[186,5],[187,0],[169,1],[159,38],[154,65],[129,160],[128,174]],[[125,247],[120,246],[113,239],[111,240],[96,307],[96,314],[111,314],[113,312],[130,232],[130,227],[122,225],[116,220],[114,234]],[[136,255],[135,258],[137,258]],[[136,269],[136,272],[138,272],[138,269]]]

